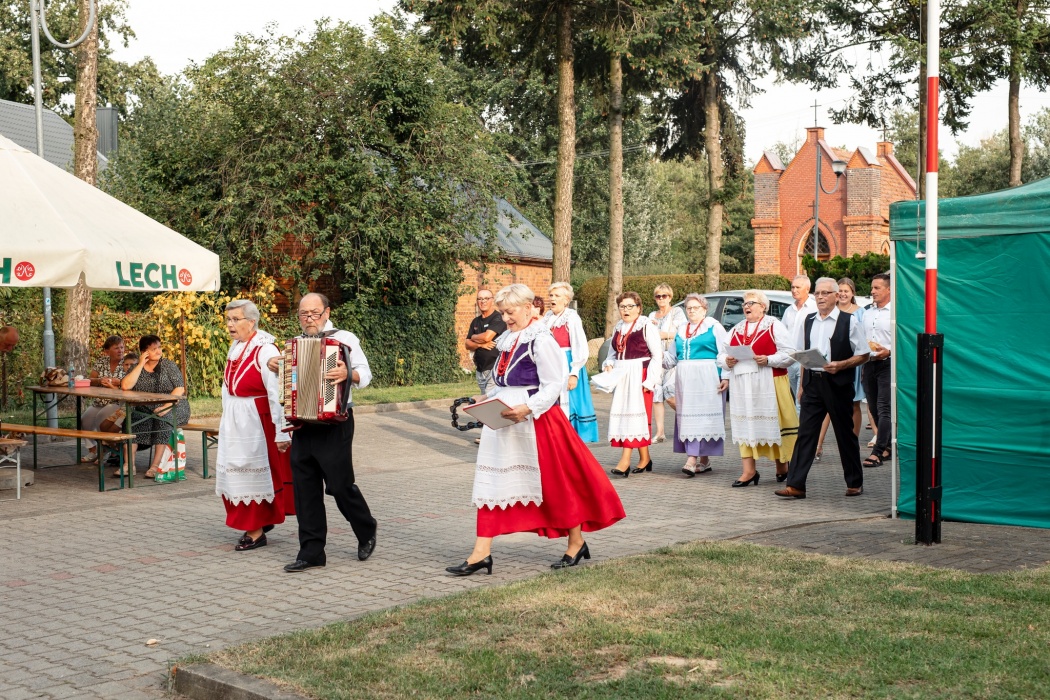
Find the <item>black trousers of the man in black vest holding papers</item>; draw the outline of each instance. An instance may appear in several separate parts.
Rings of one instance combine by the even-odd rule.
[[[805,377],[799,402],[798,441],[788,466],[788,486],[805,490],[805,480],[817,454],[820,426],[824,416],[831,416],[846,486],[860,488],[864,485],[864,468],[860,464],[860,443],[853,432],[853,382],[836,384],[823,372],[806,372]]]

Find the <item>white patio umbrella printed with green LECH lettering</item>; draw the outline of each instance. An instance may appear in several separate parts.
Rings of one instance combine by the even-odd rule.
[[[0,135],[0,285],[216,292],[218,256]]]

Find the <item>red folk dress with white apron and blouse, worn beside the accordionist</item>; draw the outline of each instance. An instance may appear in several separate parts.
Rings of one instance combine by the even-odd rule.
[[[257,332],[234,344],[224,372],[215,491],[227,526],[246,532],[295,514],[290,452],[278,451],[274,442],[277,428],[260,369],[276,354],[273,337]]]

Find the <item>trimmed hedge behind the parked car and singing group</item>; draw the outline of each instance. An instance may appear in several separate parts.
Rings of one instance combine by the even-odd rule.
[[[790,290],[791,280],[780,275],[723,274],[723,290]],[[671,303],[677,303],[690,292],[704,289],[704,275],[639,275],[624,277],[624,291],[637,292],[644,313],[656,309],[653,290],[657,284],[670,284],[674,290]],[[584,322],[588,338],[605,336],[605,303],[609,285],[605,277],[592,277],[576,290],[576,311]]]

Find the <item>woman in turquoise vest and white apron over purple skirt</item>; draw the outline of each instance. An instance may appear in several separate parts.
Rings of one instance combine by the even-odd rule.
[[[689,478],[711,471],[711,458],[721,457],[726,443],[726,389],[718,355],[726,352],[729,335],[722,324],[708,317],[708,300],[687,294],[686,323],[674,337],[674,349],[664,355],[664,366],[675,367],[674,451],[687,455],[681,471]],[[699,460],[699,469],[697,469]]]

